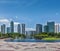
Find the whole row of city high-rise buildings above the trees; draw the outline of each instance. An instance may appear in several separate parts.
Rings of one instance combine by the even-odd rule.
[[[23,32],[22,34],[24,34],[26,31],[36,31],[36,33],[37,32],[60,32],[60,24],[56,24],[55,22],[46,22],[46,24],[45,25],[42,25],[42,24],[36,24],[35,25],[35,29],[32,29],[32,28],[30,28],[30,29],[28,29],[28,28],[26,28],[26,24],[24,24],[24,23],[22,23],[22,24],[20,24],[20,23],[18,23],[18,24],[15,24],[15,22],[13,22],[13,21],[11,21],[10,23],[9,23],[9,26],[6,26],[6,24],[2,24],[1,26],[0,26],[0,30],[1,30],[1,32],[11,32],[11,33],[13,33],[13,32],[18,32],[18,33],[20,33],[20,32]],[[48,31],[49,30],[49,31]]]

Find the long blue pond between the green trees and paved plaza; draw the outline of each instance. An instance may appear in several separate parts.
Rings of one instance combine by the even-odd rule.
[[[60,40],[10,39],[7,42],[60,42]]]

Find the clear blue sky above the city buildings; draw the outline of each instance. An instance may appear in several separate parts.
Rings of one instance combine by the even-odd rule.
[[[0,0],[0,20],[25,23],[31,28],[49,20],[60,23],[60,0]]]

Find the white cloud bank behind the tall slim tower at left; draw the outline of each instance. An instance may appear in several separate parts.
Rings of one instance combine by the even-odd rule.
[[[12,21],[12,19],[4,19],[4,18],[2,18],[2,19],[0,19],[0,26],[2,24],[5,24],[6,27],[9,27],[10,26],[10,21]],[[14,32],[17,31],[17,24],[20,24],[20,23],[19,22],[14,22]]]

